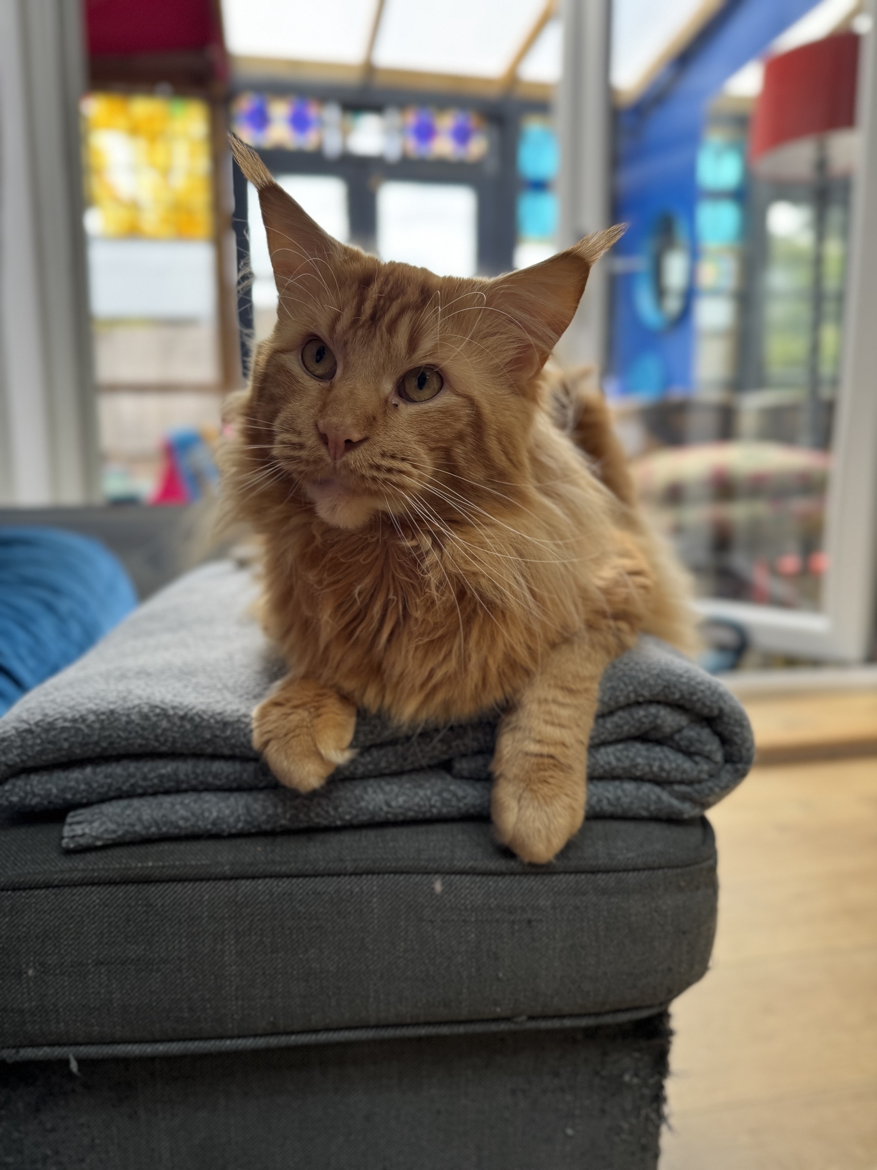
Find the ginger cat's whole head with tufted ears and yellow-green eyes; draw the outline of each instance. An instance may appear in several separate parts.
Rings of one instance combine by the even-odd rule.
[[[437,519],[519,482],[538,374],[621,229],[496,280],[435,276],[333,240],[232,145],[258,190],[279,296],[240,411],[250,480],[347,529],[379,512]]]

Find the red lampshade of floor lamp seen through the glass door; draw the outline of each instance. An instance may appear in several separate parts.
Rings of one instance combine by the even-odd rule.
[[[750,158],[856,124],[858,36],[842,33],[772,57],[755,104]]]

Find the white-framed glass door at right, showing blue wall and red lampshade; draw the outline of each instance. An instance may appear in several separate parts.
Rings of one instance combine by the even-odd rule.
[[[630,229],[607,388],[702,610],[766,651],[864,658],[873,35],[838,0],[706,19],[644,89],[616,89],[614,218]]]

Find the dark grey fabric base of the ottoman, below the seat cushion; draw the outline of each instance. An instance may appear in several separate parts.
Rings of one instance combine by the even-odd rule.
[[[631,1024],[0,1062],[14,1170],[655,1170],[669,1033]]]

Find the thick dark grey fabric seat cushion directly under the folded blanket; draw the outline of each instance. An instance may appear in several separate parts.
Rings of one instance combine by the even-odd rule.
[[[704,973],[714,916],[703,819],[588,821],[545,869],[481,823],[82,854],[57,823],[11,824],[0,1048],[648,1013]]]

